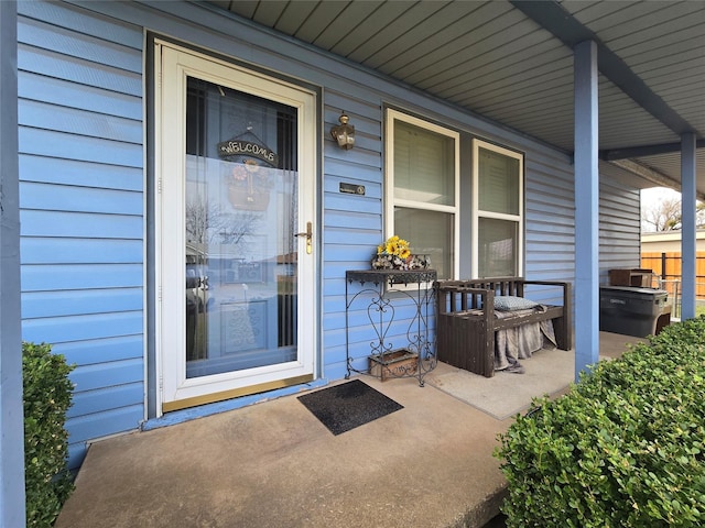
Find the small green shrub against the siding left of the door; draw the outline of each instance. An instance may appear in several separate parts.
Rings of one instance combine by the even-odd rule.
[[[22,343],[26,526],[51,527],[73,491],[64,429],[73,385],[61,354],[48,344]]]

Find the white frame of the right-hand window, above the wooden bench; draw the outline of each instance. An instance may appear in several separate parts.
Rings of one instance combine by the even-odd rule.
[[[519,161],[519,215],[507,215],[501,212],[485,211],[480,209],[479,204],[479,150],[486,148],[488,151],[502,154],[508,157],[512,157]],[[517,276],[524,276],[524,155],[517,151],[505,148],[487,141],[474,139],[473,140],[473,263],[471,275],[474,278],[479,278],[479,222],[481,218],[492,218],[497,220],[508,220],[518,223],[518,240],[517,240]]]

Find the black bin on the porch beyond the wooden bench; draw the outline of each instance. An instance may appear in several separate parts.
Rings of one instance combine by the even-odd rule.
[[[646,338],[657,334],[657,321],[666,306],[664,289],[600,286],[599,329]]]

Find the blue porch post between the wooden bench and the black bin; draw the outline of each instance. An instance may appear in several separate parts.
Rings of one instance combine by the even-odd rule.
[[[575,46],[575,381],[599,359],[597,45]]]

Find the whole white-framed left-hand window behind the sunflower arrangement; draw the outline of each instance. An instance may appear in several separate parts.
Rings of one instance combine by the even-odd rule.
[[[387,112],[387,237],[429,255],[438,278],[457,274],[459,134]]]

